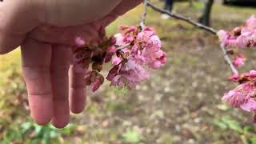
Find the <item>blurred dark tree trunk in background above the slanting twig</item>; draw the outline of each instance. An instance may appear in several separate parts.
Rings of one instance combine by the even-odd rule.
[[[210,26],[210,12],[214,4],[214,0],[206,0],[205,7],[199,22],[203,25]]]

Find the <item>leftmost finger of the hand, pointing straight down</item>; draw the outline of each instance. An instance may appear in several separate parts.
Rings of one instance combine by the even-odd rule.
[[[22,44],[22,73],[26,81],[31,116],[39,125],[53,115],[53,92],[50,77],[50,44],[26,39]]]

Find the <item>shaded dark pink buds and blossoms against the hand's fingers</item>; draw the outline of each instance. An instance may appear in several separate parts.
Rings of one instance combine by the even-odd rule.
[[[103,64],[110,62],[116,52],[116,38],[107,38],[102,30],[101,41],[96,43],[86,42],[82,38],[76,38],[77,47],[74,48],[73,63],[77,73],[85,74],[86,86],[90,86],[93,92],[98,90],[105,78],[100,74]]]

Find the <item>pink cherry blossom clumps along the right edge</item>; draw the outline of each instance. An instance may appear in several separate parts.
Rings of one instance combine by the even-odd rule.
[[[256,16],[251,16],[244,26],[236,27],[231,32],[218,31],[221,45],[228,50],[227,54],[233,56],[235,67],[244,65],[246,58],[238,51],[244,48],[256,47]],[[256,114],[256,70],[244,74],[233,74],[228,78],[231,82],[238,82],[234,90],[224,94],[222,100],[237,108]],[[256,116],[254,116],[256,122]]]

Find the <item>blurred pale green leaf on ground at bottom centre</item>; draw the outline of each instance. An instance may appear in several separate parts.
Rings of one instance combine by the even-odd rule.
[[[128,130],[125,134],[122,134],[122,138],[126,142],[136,143],[141,141],[141,135],[135,130]]]

